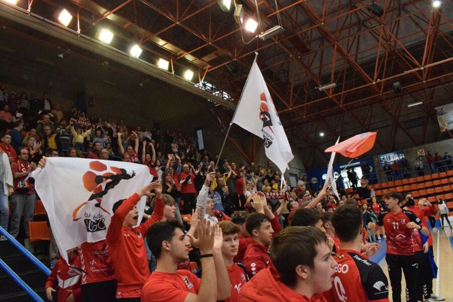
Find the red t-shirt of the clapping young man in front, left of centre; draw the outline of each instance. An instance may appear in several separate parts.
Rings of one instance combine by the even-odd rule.
[[[153,272],[141,290],[142,301],[184,302],[189,292],[197,294],[201,280],[188,270],[175,274]]]

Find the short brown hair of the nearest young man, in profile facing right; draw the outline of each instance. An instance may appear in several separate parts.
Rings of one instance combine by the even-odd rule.
[[[274,236],[270,248],[272,263],[286,286],[297,282],[295,269],[298,265],[314,267],[316,247],[327,244],[327,237],[314,226],[289,226]]]

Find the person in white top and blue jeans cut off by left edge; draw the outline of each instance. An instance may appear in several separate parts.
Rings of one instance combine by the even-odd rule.
[[[0,226],[8,231],[8,219],[10,208],[8,204],[8,196],[14,192],[13,173],[8,155],[0,150]],[[5,237],[0,237],[0,241],[5,240]]]

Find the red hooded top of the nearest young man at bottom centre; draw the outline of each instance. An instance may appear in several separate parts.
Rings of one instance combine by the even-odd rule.
[[[311,298],[295,292],[278,281],[278,276],[272,274],[270,267],[261,270],[247,282],[239,292],[239,302],[327,302],[322,294]],[[351,301],[352,302],[352,301]],[[354,301],[359,302],[359,301]],[[361,301],[360,301],[361,302]]]

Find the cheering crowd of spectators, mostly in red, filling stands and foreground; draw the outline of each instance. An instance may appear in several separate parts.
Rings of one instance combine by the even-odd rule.
[[[379,294],[388,301],[387,277],[379,265],[364,268],[353,259],[371,263],[368,257],[385,236],[383,224],[386,233],[389,230],[383,217],[390,210],[401,211],[398,205],[387,208],[402,200],[398,193],[386,194],[386,203],[371,194],[359,203],[341,189],[334,194],[327,183],[313,189],[306,175],[291,188],[281,184],[279,171],[199,150],[191,135],[87,117],[77,107],[64,113],[46,94],[40,100],[25,93],[16,99],[5,86],[0,90],[1,222],[6,229],[11,194],[13,237],[18,236],[22,212],[25,225],[33,218],[36,195],[29,176],[45,165],[44,155],[142,164],[155,178],[115,203],[105,240],[67,251],[69,264],[51,259],[55,267],[45,285],[49,300],[58,289],[58,299],[68,301],[333,302],[346,293],[338,297],[336,287],[331,289],[332,276],[337,262],[348,260],[367,278],[335,275],[354,288],[348,292],[350,300]],[[368,194],[367,180],[360,184]],[[133,228],[135,204],[144,195],[144,220]],[[419,224],[402,225],[401,232],[409,238],[413,229],[426,233]],[[25,233],[28,237],[27,228]],[[412,251],[412,245],[406,248]],[[90,260],[92,271],[80,269]],[[201,273],[191,269],[191,262]],[[68,269],[82,278],[62,287],[60,280],[64,284],[72,278]],[[383,287],[363,285],[377,281]]]

